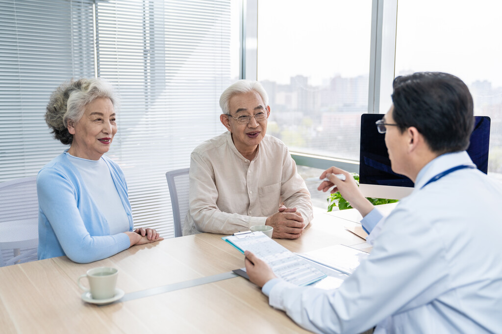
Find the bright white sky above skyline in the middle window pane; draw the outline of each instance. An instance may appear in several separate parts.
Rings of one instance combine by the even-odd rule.
[[[296,72],[320,85],[369,72],[370,0],[262,0],[258,13],[259,80],[289,83]]]

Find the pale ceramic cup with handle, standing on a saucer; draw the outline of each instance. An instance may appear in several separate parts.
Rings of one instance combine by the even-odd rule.
[[[87,270],[77,279],[78,286],[84,291],[90,291],[93,299],[108,299],[115,295],[118,270],[111,267],[97,267]],[[80,284],[80,279],[87,277],[90,289]]]

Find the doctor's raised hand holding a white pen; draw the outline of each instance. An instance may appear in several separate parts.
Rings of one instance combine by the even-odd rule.
[[[345,175],[345,181],[340,180],[334,174]],[[343,198],[350,203],[350,206],[357,209],[363,217],[373,210],[373,204],[371,204],[371,202],[369,202],[360,192],[357,183],[349,172],[340,168],[330,167],[322,172],[320,176],[321,179],[324,179],[325,177],[328,177],[329,181],[323,181],[319,187],[317,187],[317,190],[326,192],[331,187],[335,186],[331,190],[331,193],[334,194],[339,191]]]

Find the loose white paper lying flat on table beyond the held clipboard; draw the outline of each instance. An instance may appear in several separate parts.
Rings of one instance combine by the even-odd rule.
[[[334,245],[298,255],[350,275],[369,254],[345,245]]]

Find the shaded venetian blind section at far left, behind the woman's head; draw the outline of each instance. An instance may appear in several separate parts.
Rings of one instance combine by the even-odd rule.
[[[94,76],[92,1],[0,0],[0,182],[63,152],[45,124],[59,84]]]

